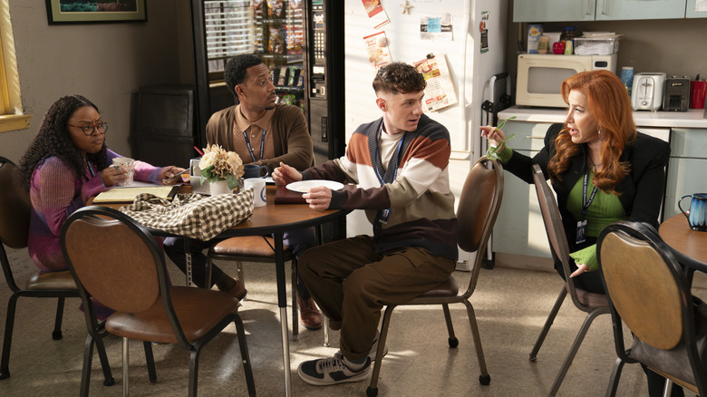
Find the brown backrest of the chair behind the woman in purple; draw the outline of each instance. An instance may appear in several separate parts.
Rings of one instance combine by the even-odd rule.
[[[0,241],[7,247],[27,247],[32,209],[29,193],[19,185],[17,167],[0,157]]]

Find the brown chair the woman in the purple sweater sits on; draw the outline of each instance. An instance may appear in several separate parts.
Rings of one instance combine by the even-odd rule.
[[[10,350],[15,327],[15,308],[17,299],[21,296],[39,298],[57,298],[56,316],[52,339],[62,339],[63,304],[67,297],[79,297],[79,290],[73,282],[73,277],[68,270],[63,272],[36,272],[20,288],[15,283],[12,266],[5,252],[5,246],[21,249],[27,247],[29,233],[30,213],[32,203],[29,193],[19,185],[15,164],[0,157],[0,263],[3,266],[5,281],[13,292],[7,302],[7,315],[5,317],[5,337],[3,341],[3,356],[0,362],[0,379],[10,377]],[[99,353],[105,375],[104,384],[113,384],[111,369],[105,360],[105,349],[99,347]]]

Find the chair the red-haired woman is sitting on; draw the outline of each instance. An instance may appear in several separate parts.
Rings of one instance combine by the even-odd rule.
[[[543,217],[543,222],[545,223],[545,230],[547,232],[547,240],[550,243],[550,249],[552,249],[553,255],[557,257],[562,262],[562,269],[565,275],[570,275],[572,272],[569,267],[569,246],[567,244],[567,235],[565,234],[565,228],[562,225],[562,219],[560,218],[559,208],[557,208],[557,200],[552,194],[550,187],[547,185],[547,180],[543,175],[542,169],[538,164],[533,165],[533,179],[535,180],[535,189],[538,194],[538,201],[540,203],[540,213]],[[574,360],[579,346],[585,338],[586,332],[589,330],[589,326],[594,322],[598,315],[605,315],[609,313],[609,303],[604,294],[595,294],[592,292],[585,291],[581,288],[577,288],[574,283],[564,283],[560,289],[560,293],[557,296],[557,301],[555,305],[552,306],[550,314],[547,316],[545,325],[543,325],[542,331],[538,335],[538,340],[533,346],[532,352],[530,352],[530,361],[536,361],[538,356],[538,351],[545,341],[547,332],[550,330],[550,326],[555,321],[557,312],[559,312],[560,306],[565,301],[569,293],[572,298],[572,303],[577,309],[586,313],[586,318],[582,326],[579,328],[579,332],[576,334],[575,342],[567,353],[565,362],[562,363],[559,373],[555,378],[555,382],[552,384],[552,388],[548,395],[554,396],[557,394],[562,381],[565,379],[567,370]]]

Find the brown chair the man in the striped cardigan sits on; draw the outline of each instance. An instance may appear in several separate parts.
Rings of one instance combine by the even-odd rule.
[[[476,323],[474,306],[469,299],[476,289],[479,280],[479,271],[486,253],[486,245],[489,236],[499,215],[501,199],[503,197],[503,168],[496,160],[489,160],[485,157],[479,159],[471,167],[464,186],[461,189],[459,207],[457,208],[457,220],[459,223],[459,237],[457,243],[459,247],[467,252],[473,252],[470,257],[471,275],[469,285],[463,294],[459,294],[460,289],[454,276],[442,283],[440,286],[432,288],[404,305],[441,305],[444,319],[449,333],[448,343],[450,347],[457,347],[459,340],[454,334],[454,327],[451,323],[450,304],[464,304],[467,307],[467,316],[471,327],[471,334],[474,338],[477,360],[479,361],[479,382],[487,385],[491,382],[491,377],[486,369],[483,349],[481,348],[481,338],[479,336],[479,325]],[[373,365],[373,375],[371,384],[366,390],[369,397],[378,394],[378,376],[381,373],[383,352],[385,351],[385,340],[388,336],[388,327],[391,323],[393,309],[397,305],[387,305],[383,314],[381,324],[381,336],[378,342],[378,350],[375,355]]]

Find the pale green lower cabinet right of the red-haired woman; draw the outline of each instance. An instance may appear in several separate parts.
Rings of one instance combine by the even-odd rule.
[[[678,200],[686,194],[707,192],[707,130],[673,128],[665,187],[664,217],[680,213]],[[685,200],[685,205],[687,204]]]

